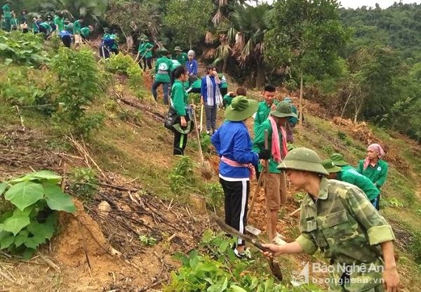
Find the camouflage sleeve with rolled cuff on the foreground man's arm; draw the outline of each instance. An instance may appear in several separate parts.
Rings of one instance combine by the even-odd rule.
[[[338,192],[345,192],[343,197],[345,198],[347,208],[366,230],[370,245],[395,240],[392,227],[373,207],[361,190],[352,187],[348,190],[339,190]]]

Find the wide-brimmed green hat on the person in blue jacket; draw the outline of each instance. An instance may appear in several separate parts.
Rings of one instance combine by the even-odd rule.
[[[253,116],[258,111],[258,107],[257,100],[249,100],[243,95],[236,96],[225,110],[225,119],[228,121],[243,121]]]

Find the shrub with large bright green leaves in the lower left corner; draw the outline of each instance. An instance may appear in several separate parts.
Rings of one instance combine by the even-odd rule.
[[[60,175],[37,171],[0,184],[13,208],[0,214],[0,249],[32,256],[53,237],[57,211],[74,213],[72,197],[60,189]]]

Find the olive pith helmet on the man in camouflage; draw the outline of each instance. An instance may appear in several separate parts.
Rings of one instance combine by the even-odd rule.
[[[296,171],[311,171],[321,175],[329,173],[321,165],[319,155],[311,149],[300,147],[291,150],[279,164],[278,169],[294,169]]]

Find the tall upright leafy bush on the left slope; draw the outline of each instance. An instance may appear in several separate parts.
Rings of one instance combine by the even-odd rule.
[[[86,107],[100,97],[105,85],[93,52],[87,48],[60,48],[51,68],[58,76],[58,102],[62,105],[55,114],[56,121],[67,123],[77,135],[88,135],[99,128],[102,114],[86,114]]]

